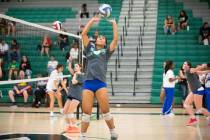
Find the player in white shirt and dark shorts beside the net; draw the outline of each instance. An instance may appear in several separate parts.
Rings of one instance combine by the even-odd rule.
[[[58,64],[56,69],[54,71],[51,72],[49,80],[47,82],[47,94],[50,97],[50,116],[53,117],[54,113],[54,102],[55,102],[55,98],[58,101],[58,106],[60,108],[60,112],[62,113],[62,95],[61,95],[61,88],[59,86],[59,84],[63,87],[64,86],[64,82],[63,79],[61,78],[61,76],[63,76],[63,65]],[[67,89],[65,88],[65,90],[67,91]]]

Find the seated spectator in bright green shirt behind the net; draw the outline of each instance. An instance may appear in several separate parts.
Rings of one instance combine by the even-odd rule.
[[[19,64],[18,62],[14,59],[12,62],[9,64],[9,80],[12,79],[12,76],[14,75],[15,79],[17,79],[18,76],[18,69],[19,69]]]

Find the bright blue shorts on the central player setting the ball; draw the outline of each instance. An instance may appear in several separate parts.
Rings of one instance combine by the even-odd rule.
[[[98,80],[98,79],[94,79],[94,80],[86,80],[83,83],[83,89],[87,89],[90,90],[92,92],[96,92],[97,90],[106,87],[107,84]]]

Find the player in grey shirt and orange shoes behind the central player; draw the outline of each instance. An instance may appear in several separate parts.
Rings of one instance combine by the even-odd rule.
[[[64,105],[63,113],[65,114],[66,122],[68,128],[66,132],[68,133],[78,133],[80,132],[75,119],[74,111],[81,102],[82,89],[84,74],[81,72],[82,66],[80,64],[75,64],[74,69],[72,69],[72,63],[69,63],[69,71],[73,76],[72,80],[69,82],[69,89],[67,94],[67,101]]]

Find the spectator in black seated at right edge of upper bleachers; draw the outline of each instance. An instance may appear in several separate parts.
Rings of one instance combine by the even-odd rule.
[[[209,45],[210,43],[210,28],[208,22],[204,22],[200,28],[199,43],[201,45]]]

